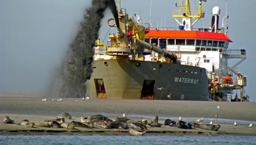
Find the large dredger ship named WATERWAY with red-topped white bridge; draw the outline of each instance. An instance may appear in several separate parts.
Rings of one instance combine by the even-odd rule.
[[[180,0],[172,16],[182,21],[175,19],[179,27],[172,29],[142,25],[140,17],[129,17],[118,1],[117,16],[108,20],[116,33],[109,35],[107,45],[100,40],[96,44],[86,95],[105,99],[227,101],[234,89],[240,89],[241,97],[236,95],[236,100],[245,100],[246,76],[235,70],[246,58],[245,50],[229,49],[232,41],[226,35],[227,26],[218,28],[218,7],[212,10],[210,28],[193,28],[204,17],[202,1],[197,10],[190,10],[189,1]],[[192,22],[192,18],[196,20]],[[229,67],[229,58],[241,60]]]

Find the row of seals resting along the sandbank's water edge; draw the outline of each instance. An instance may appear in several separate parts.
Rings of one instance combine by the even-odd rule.
[[[117,117],[115,120],[111,120],[108,117],[102,114],[91,115],[88,117],[81,117],[81,122],[72,120],[70,123],[65,123],[66,119],[72,119],[72,116],[69,113],[61,113],[55,119],[44,120],[43,122],[29,122],[27,119],[23,120],[18,125],[33,128],[34,126],[45,127],[45,128],[66,128],[66,129],[75,129],[75,128],[86,128],[93,129],[97,125],[103,129],[124,129],[128,130],[130,135],[144,135],[147,131],[147,125],[151,127],[160,128],[163,124],[158,122],[158,116],[155,116],[152,119],[146,120],[131,120],[123,114],[123,117]],[[206,129],[212,131],[218,131],[221,125],[213,124],[202,124],[203,117],[195,120],[194,122],[184,122],[181,117],[177,121],[171,119],[165,119],[164,125],[175,126],[180,129]],[[10,119],[9,116],[5,116],[3,120],[4,124],[14,124],[14,120]],[[96,127],[94,126],[96,125]]]

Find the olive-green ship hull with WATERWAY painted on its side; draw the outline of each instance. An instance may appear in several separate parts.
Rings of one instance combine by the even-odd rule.
[[[206,69],[129,59],[96,60],[86,95],[105,99],[209,100]]]

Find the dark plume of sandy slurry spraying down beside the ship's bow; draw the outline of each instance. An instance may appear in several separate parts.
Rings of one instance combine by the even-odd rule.
[[[108,6],[110,6],[115,19],[118,19],[114,0],[93,0],[92,7],[86,9],[81,28],[64,60],[66,64],[61,73],[62,86],[59,89],[59,96],[74,98],[85,96],[85,82],[90,79],[93,71],[94,43],[98,38],[100,20],[104,17],[104,11]]]

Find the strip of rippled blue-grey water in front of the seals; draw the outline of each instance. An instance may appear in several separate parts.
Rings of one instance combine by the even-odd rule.
[[[256,144],[240,135],[0,135],[0,144]]]

